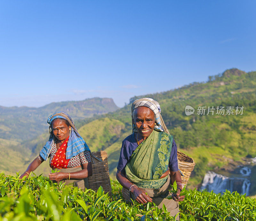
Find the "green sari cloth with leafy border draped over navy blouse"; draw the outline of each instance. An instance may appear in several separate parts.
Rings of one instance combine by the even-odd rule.
[[[165,132],[153,130],[132,153],[125,166],[128,180],[141,188],[160,188],[167,176],[160,179],[168,170],[173,137]]]

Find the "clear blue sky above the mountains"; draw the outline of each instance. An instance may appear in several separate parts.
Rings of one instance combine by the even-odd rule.
[[[0,105],[167,91],[256,70],[256,1],[0,3]]]

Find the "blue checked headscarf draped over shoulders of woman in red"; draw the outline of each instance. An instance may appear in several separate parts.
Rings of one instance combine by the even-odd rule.
[[[52,114],[51,116],[48,117],[47,123],[51,125],[52,121],[56,118],[63,118],[67,120],[71,126],[70,136],[68,139],[68,146],[66,150],[67,159],[70,159],[83,151],[90,151],[88,145],[85,143],[84,139],[79,135],[78,131],[76,130],[74,122],[72,121],[71,117],[67,113],[63,111],[56,112],[55,114]],[[44,145],[43,149],[40,152],[40,156],[44,160],[47,160],[47,158],[49,157],[53,144],[54,144],[54,135],[53,133],[50,133],[49,140],[47,141],[47,143]]]

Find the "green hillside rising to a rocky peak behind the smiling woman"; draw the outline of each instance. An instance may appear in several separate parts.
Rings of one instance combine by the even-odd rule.
[[[131,98],[151,97],[162,108],[162,116],[178,149],[196,161],[189,180],[189,187],[201,183],[205,172],[220,168],[246,156],[256,156],[256,72],[245,73],[231,69],[208,82],[194,82],[179,89]],[[194,114],[187,116],[185,107],[194,107]],[[206,107],[205,114],[197,114],[197,107]],[[217,107],[244,107],[243,114],[216,114]],[[208,107],[215,108],[207,115]],[[131,104],[113,113],[97,115],[76,123],[92,151],[106,150],[110,176],[115,178],[122,140],[132,133]],[[35,157],[47,134],[25,142],[21,146],[32,150]],[[45,167],[48,166],[45,164]],[[38,173],[37,173],[38,174]],[[255,193],[256,194],[256,193]]]

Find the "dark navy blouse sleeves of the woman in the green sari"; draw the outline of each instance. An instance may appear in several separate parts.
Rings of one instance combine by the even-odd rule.
[[[124,172],[124,167],[129,162],[133,151],[138,147],[138,144],[135,140],[134,133],[130,136],[127,136],[122,143],[120,157],[117,165],[117,170]],[[177,160],[177,145],[173,139],[172,141],[172,151],[169,160],[169,169],[172,172],[178,171],[178,160]]]

